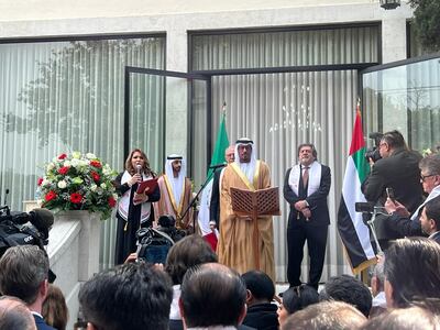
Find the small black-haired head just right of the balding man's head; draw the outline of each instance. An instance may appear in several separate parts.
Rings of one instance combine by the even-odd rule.
[[[246,304],[271,302],[275,296],[275,286],[271,277],[261,271],[250,271],[241,275],[246,286]]]

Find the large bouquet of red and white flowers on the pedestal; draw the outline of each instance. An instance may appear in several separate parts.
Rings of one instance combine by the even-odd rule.
[[[117,173],[94,154],[61,154],[38,178],[42,207],[55,210],[88,210],[110,218],[118,195],[112,184]]]

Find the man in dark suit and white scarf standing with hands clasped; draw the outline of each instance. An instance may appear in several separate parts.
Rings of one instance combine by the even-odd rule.
[[[310,256],[308,284],[318,289],[326,256],[327,232],[330,224],[327,196],[331,185],[330,168],[317,162],[312,144],[298,146],[299,164],[289,168],[284,180],[284,198],[290,206],[287,224],[287,279],[298,286],[304,244]]]

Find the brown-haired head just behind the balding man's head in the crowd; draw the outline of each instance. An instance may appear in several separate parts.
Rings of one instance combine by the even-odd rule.
[[[193,234],[173,245],[166,257],[165,271],[172,277],[173,284],[182,284],[190,267],[216,262],[217,254],[209,243],[200,235]]]

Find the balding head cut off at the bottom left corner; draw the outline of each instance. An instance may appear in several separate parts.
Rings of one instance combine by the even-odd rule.
[[[0,330],[36,330],[35,320],[21,299],[0,297]]]

